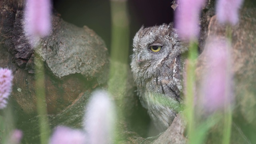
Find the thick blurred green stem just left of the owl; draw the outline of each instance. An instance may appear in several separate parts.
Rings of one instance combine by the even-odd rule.
[[[118,106],[118,121],[123,120],[124,94],[126,94],[128,58],[129,58],[129,20],[126,0],[110,0],[112,33],[110,51],[110,76],[108,91]],[[116,142],[122,130],[116,130]]]

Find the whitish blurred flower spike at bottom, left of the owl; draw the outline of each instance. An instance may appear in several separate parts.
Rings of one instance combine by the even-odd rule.
[[[84,117],[88,144],[112,143],[115,120],[115,107],[108,93],[103,90],[94,92]]]

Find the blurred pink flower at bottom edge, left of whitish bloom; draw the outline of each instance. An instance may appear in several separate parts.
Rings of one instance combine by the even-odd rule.
[[[54,130],[49,144],[86,144],[86,135],[81,130],[58,126]]]

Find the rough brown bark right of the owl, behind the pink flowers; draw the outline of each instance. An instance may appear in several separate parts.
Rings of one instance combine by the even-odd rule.
[[[232,144],[250,144],[255,139],[251,135],[256,132],[256,9],[243,8],[240,11],[240,21],[232,26],[232,71],[234,72],[234,110],[232,124]],[[209,20],[207,39],[211,37],[226,40],[226,25],[219,24],[216,16]],[[204,52],[198,58],[196,74],[198,82],[207,69]],[[212,128],[208,135],[208,142],[221,143],[220,137],[223,124],[220,122]]]

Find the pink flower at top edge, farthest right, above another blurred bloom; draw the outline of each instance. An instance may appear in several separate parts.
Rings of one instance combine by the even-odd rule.
[[[216,3],[217,19],[220,23],[235,25],[238,22],[238,10],[244,0],[218,0]]]

